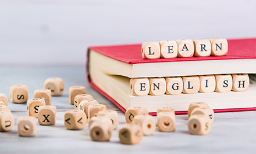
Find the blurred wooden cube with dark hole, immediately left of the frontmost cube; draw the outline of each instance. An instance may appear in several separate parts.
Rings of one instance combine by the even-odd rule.
[[[90,127],[90,137],[93,141],[109,141],[112,136],[112,124],[108,122],[94,122]]]

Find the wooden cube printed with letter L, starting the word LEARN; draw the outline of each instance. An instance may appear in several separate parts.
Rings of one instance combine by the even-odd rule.
[[[141,44],[142,57],[146,59],[160,58],[159,42],[143,42]]]

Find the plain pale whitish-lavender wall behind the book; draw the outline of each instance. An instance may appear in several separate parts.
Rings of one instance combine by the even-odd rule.
[[[84,65],[88,46],[256,36],[256,1],[0,0],[0,67]]]

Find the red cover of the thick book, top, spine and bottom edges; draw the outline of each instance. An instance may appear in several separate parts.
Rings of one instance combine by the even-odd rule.
[[[171,61],[200,61],[200,60],[232,60],[232,59],[250,59],[256,58],[256,38],[250,39],[230,39],[228,42],[228,52],[226,56],[208,56],[208,57],[187,57],[187,58],[158,58],[158,59],[143,59],[141,56],[141,44],[137,45],[117,45],[117,46],[93,46],[88,47],[89,50],[94,50],[104,56],[113,58],[118,61],[122,61],[127,64],[138,64],[138,63],[162,63]],[[87,52],[87,53],[88,53]],[[104,91],[99,89],[90,79],[88,74],[88,54],[87,54],[87,79],[89,85],[94,87],[95,90],[99,91],[103,96],[112,101],[119,109],[123,112],[126,111],[118,102],[113,100]],[[215,109],[215,112],[233,112],[233,111],[251,111],[256,108],[234,108],[234,109]],[[187,111],[176,112],[176,114],[187,114]],[[156,113],[151,113],[156,115]]]

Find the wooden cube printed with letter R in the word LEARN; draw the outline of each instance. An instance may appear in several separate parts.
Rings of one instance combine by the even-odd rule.
[[[212,46],[209,39],[196,39],[193,42],[195,47],[194,56],[207,57],[211,55]]]

